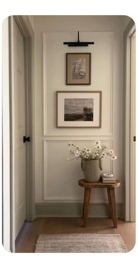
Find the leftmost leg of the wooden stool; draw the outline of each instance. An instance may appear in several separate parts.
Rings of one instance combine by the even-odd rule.
[[[91,196],[91,188],[85,187],[85,192],[84,192],[84,213],[83,213],[84,227],[87,227],[90,196]]]

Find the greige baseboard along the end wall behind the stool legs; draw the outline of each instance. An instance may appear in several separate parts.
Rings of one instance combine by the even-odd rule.
[[[122,218],[122,203],[116,204],[118,217]],[[36,203],[37,217],[81,217],[82,203]],[[109,206],[104,203],[89,205],[89,217],[109,217]]]

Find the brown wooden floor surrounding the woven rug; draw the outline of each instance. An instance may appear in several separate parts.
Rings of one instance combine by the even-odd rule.
[[[82,218],[39,217],[27,222],[16,239],[16,252],[34,252],[39,234],[120,234],[128,251],[135,244],[135,223],[118,220],[118,228],[113,228],[112,220],[89,218],[88,227],[82,227]]]

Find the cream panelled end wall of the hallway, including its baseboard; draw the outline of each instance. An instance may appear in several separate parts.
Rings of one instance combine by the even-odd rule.
[[[36,214],[80,216],[83,178],[80,161],[67,162],[69,141],[92,148],[95,139],[113,148],[115,162],[104,170],[123,180],[123,30],[126,16],[34,16]],[[129,18],[128,18],[129,22]],[[70,49],[67,40],[95,45]],[[71,47],[72,48],[72,47]],[[91,52],[91,86],[65,85],[65,53]],[[56,91],[102,91],[102,128],[56,128]],[[123,183],[116,189],[122,216]],[[92,192],[91,216],[108,216],[105,190]]]

